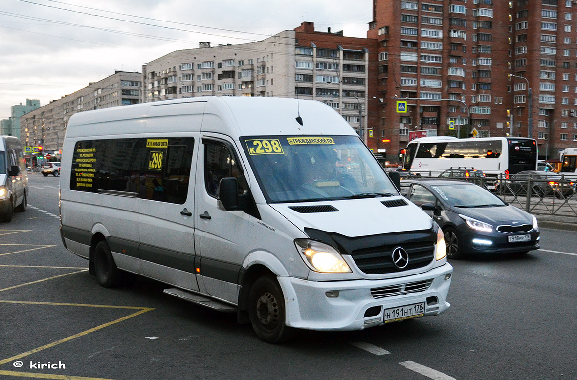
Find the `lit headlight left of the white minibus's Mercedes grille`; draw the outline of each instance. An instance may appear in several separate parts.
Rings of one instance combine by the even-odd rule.
[[[349,265],[342,255],[328,244],[309,239],[294,240],[297,250],[305,264],[312,270],[322,273],[351,273]]]

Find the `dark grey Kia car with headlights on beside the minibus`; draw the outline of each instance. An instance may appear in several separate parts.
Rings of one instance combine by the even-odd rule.
[[[527,253],[539,248],[537,219],[474,183],[406,179],[402,193],[443,229],[448,258],[469,253]]]

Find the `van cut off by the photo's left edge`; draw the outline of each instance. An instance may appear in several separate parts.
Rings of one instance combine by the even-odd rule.
[[[0,136],[0,221],[12,220],[14,210],[28,205],[28,175],[17,137]]]

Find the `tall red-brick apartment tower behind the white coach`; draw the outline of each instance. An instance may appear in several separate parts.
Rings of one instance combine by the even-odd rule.
[[[375,112],[390,140],[377,148],[402,148],[422,130],[531,134],[541,157],[575,145],[576,16],[569,0],[375,0],[367,36],[379,40],[378,96],[387,100]],[[394,97],[411,98],[406,113]]]

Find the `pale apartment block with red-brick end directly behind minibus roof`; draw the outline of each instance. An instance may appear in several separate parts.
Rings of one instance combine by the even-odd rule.
[[[330,29],[317,32],[313,22],[253,43],[201,43],[144,65],[143,100],[211,95],[315,99],[343,115],[374,148],[374,117],[366,110],[379,101],[377,48],[376,39]]]

